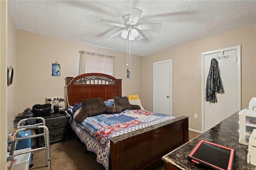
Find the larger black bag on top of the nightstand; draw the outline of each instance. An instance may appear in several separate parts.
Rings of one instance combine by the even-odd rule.
[[[32,111],[34,113],[33,117],[42,117],[42,116],[49,116],[52,115],[52,104],[51,103],[46,103],[44,105],[34,105],[32,107]]]

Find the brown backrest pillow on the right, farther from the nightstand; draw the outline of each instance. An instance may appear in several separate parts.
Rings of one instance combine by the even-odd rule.
[[[125,111],[126,109],[140,109],[139,105],[131,105],[129,103],[128,97],[114,97],[114,107],[121,106],[122,111]]]

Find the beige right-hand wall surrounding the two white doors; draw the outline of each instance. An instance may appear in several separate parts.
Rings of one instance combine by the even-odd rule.
[[[242,109],[256,95],[256,26],[187,43],[144,56],[142,59],[143,105],[153,110],[153,63],[172,59],[172,115],[189,117],[189,128],[201,131],[201,53],[241,46]],[[164,77],[163,77],[164,78]],[[194,113],[198,118],[194,118]]]

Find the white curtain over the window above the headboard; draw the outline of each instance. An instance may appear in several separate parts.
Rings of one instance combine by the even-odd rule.
[[[94,55],[93,55],[94,54]],[[104,73],[113,76],[114,57],[80,51],[79,75],[84,73]]]

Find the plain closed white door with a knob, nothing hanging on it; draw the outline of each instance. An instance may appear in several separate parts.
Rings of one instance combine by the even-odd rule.
[[[172,60],[153,63],[153,110],[156,113],[172,115]]]

